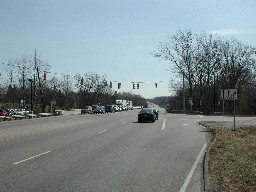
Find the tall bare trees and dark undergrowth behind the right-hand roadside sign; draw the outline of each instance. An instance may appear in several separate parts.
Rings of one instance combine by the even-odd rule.
[[[183,109],[185,93],[186,110],[190,110],[188,101],[192,98],[193,111],[207,114],[220,112],[223,101],[219,91],[237,89],[237,113],[256,112],[255,46],[234,38],[227,40],[217,35],[178,30],[169,36],[167,41],[161,42],[153,55],[168,61],[175,78],[180,79],[179,82],[171,83],[172,89],[175,90],[169,101],[171,108]],[[225,101],[224,110],[231,113],[233,101]]]

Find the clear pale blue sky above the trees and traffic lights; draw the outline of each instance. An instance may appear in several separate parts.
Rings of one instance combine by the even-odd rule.
[[[122,82],[118,91],[168,96],[169,65],[150,53],[179,29],[255,46],[256,1],[0,0],[0,62],[37,49],[53,73],[96,72],[116,90]],[[133,90],[133,81],[146,83]]]

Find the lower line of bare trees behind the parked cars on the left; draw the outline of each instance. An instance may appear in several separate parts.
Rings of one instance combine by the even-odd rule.
[[[2,63],[2,67],[5,78],[0,84],[0,104],[3,109],[30,110],[32,103],[35,113],[49,112],[51,104],[55,109],[69,110],[84,105],[114,104],[116,99],[131,100],[133,105],[146,105],[146,100],[140,95],[115,92],[106,75],[93,72],[75,75],[51,73],[51,65],[36,50],[33,55],[10,59]]]

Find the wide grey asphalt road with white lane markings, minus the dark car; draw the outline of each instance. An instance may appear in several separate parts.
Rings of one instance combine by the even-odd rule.
[[[200,191],[198,115],[138,110],[0,123],[0,191]]]

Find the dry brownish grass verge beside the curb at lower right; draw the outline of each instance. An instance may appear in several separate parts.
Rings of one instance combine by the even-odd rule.
[[[201,122],[215,136],[209,152],[209,191],[256,191],[256,126]]]

